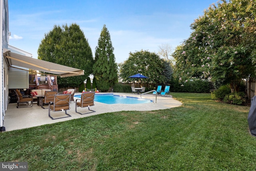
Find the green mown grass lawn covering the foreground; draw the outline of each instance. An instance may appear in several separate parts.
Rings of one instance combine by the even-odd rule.
[[[255,170],[250,107],[171,93],[181,107],[120,111],[0,134],[0,161],[28,170]]]

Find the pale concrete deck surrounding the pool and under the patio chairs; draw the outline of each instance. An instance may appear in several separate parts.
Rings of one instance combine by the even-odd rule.
[[[79,95],[81,93],[75,93],[75,95]],[[99,93],[104,94],[104,93]],[[140,98],[140,94],[131,94],[131,93],[113,93],[115,95],[126,95],[130,97],[138,97]],[[80,115],[75,112],[75,103],[70,102],[70,110],[67,111],[71,115],[71,117],[66,117],[62,119],[52,120],[48,116],[48,109],[43,109],[38,106],[36,102],[33,103],[32,107],[24,107],[24,108],[16,108],[17,103],[9,103],[5,116],[4,116],[4,127],[6,131],[12,131],[17,129],[24,129],[29,127],[35,127],[45,124],[57,123],[61,121],[67,121],[71,119],[78,119],[82,117],[88,117],[92,115],[98,115],[101,113],[115,112],[115,111],[152,111],[159,109],[169,109],[172,107],[178,107],[182,105],[180,101],[173,99],[172,97],[161,97],[152,94],[142,95],[142,98],[151,99],[154,103],[142,103],[142,104],[105,104],[95,101],[94,106],[90,106],[90,109],[96,111],[94,113],[88,113],[85,115]],[[74,101],[76,101],[77,97],[74,97]],[[156,101],[156,104],[155,104]],[[47,106],[46,106],[47,107]],[[78,111],[82,113],[88,112],[88,107],[84,107],[83,109],[78,107]],[[58,115],[64,116],[64,111],[52,112],[51,115],[53,117],[58,117]]]

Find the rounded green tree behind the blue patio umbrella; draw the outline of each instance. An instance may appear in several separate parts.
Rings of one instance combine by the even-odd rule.
[[[136,78],[128,77],[140,73],[148,77],[148,79],[144,79],[144,82],[154,85],[164,84],[166,82],[164,70],[164,60],[154,52],[141,50],[134,53],[130,52],[128,60],[120,64],[120,77],[124,82],[135,81]]]

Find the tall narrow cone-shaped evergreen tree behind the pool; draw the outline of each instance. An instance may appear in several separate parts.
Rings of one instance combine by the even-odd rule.
[[[118,77],[114,48],[106,25],[101,30],[98,46],[95,49],[93,72],[96,85],[101,91],[108,91],[110,87],[114,86]]]

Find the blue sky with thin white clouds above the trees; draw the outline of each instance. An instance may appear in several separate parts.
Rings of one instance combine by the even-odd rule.
[[[173,49],[187,39],[190,24],[217,0],[9,0],[9,44],[37,58],[44,34],[54,25],[76,23],[94,54],[105,24],[116,62],[129,52]]]

